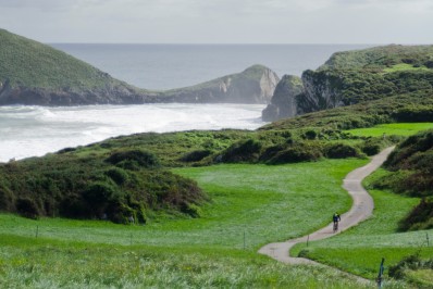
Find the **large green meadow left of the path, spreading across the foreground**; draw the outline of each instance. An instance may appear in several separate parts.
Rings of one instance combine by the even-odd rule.
[[[279,264],[257,250],[348,209],[342,178],[366,162],[176,169],[210,194],[201,218],[123,226],[1,214],[0,286],[362,288],[334,269]]]

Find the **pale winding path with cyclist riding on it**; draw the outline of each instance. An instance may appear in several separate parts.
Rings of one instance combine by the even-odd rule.
[[[362,187],[361,181],[364,177],[373,173],[382,165],[393,149],[394,147],[387,148],[374,155],[370,163],[351,171],[343,180],[343,188],[349,192],[354,199],[354,204],[349,212],[342,215],[338,233],[344,231],[371,216],[374,209],[374,202],[371,196]],[[316,241],[334,236],[335,234],[333,233],[332,227],[333,224],[331,223],[326,227],[321,228],[308,236],[287,240],[285,242],[269,243],[262,247],[259,250],[259,253],[289,264],[319,264],[309,259],[289,256],[289,250],[296,243],[307,242],[307,239],[310,241]]]

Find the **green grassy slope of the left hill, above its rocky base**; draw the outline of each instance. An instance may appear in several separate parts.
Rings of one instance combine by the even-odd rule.
[[[72,91],[125,86],[60,50],[4,29],[0,29],[0,83]]]

